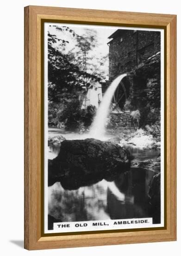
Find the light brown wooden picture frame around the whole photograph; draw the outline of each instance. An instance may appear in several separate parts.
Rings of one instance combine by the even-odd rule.
[[[42,24],[56,20],[75,24],[164,29],[165,45],[165,225],[160,229],[44,235]],[[176,15],[25,7],[25,249],[55,249],[176,240]]]

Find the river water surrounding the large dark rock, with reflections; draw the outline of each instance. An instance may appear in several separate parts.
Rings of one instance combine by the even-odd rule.
[[[67,140],[83,139],[84,135],[50,128],[49,136],[63,135]],[[110,138],[110,135],[107,135]],[[133,162],[153,159],[159,150],[129,148]],[[49,159],[55,158],[59,147],[49,147]],[[115,181],[102,180],[91,186],[65,190],[60,182],[49,187],[49,214],[62,222],[153,217],[149,206],[149,185],[155,172],[131,168]]]

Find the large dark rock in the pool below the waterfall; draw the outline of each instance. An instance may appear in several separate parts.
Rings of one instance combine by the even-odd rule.
[[[130,168],[130,152],[112,142],[95,139],[62,141],[59,155],[49,160],[49,186],[61,182],[64,189],[78,189]]]

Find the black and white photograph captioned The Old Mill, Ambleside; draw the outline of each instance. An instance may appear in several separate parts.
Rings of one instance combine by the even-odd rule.
[[[44,233],[164,226],[163,41],[44,23]]]

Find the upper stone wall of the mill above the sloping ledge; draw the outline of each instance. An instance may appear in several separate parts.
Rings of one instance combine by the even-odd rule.
[[[160,52],[160,32],[118,29],[108,38],[110,81]]]

